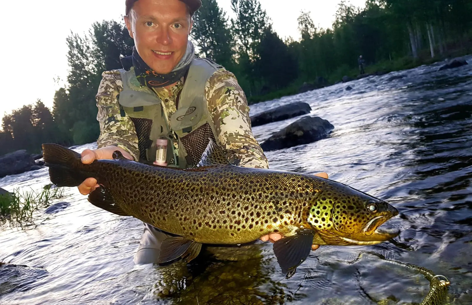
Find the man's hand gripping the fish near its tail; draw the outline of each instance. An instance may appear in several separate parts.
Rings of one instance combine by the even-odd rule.
[[[133,157],[127,153],[124,149],[119,148],[115,145],[105,146],[99,149],[85,149],[82,152],[82,163],[90,164],[94,160],[101,160],[101,159],[113,159],[113,152],[120,151],[123,156],[129,160],[133,160]],[[97,179],[95,178],[87,178],[82,182],[78,188],[79,192],[83,195],[87,195],[93,192],[97,187],[100,185],[97,184]]]

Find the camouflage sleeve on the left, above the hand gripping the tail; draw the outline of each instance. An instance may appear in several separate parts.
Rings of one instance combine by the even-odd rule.
[[[102,77],[96,96],[100,123],[98,148],[116,145],[139,160],[135,125],[128,116],[121,116],[118,104],[118,95],[123,90],[121,75],[118,70],[112,70],[103,72]]]

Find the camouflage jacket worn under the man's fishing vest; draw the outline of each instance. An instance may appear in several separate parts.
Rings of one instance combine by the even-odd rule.
[[[105,71],[102,77],[96,96],[100,123],[98,147],[116,145],[139,160],[135,126],[128,116],[121,116],[118,104],[118,95],[123,89],[120,73],[118,70]],[[179,80],[171,88],[154,89],[163,101],[167,117],[176,111],[176,97],[182,88],[183,81]],[[207,81],[204,94],[221,146],[240,160],[240,166],[269,168],[267,158],[251,131],[246,96],[234,74],[224,69],[216,71]]]

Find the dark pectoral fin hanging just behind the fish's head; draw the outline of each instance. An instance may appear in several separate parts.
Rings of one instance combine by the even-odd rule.
[[[286,279],[295,274],[296,267],[302,264],[312,249],[314,232],[299,230],[295,235],[284,237],[274,243],[274,253]]]

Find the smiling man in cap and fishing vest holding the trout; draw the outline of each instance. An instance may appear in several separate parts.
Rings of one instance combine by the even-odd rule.
[[[167,139],[169,166],[187,168],[199,161],[210,137],[239,166],[269,168],[251,132],[246,97],[235,76],[210,60],[194,58],[188,35],[201,4],[126,0],[125,22],[135,48],[123,58],[123,69],[102,74],[96,96],[99,148],[84,150],[83,163],[112,159],[116,150],[130,160],[152,163],[156,140]],[[79,191],[88,194],[96,187],[97,181],[88,178]],[[135,262],[155,263],[167,236],[145,224]],[[272,233],[261,240],[280,238]]]

